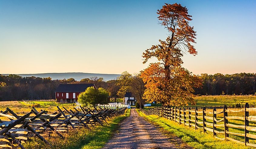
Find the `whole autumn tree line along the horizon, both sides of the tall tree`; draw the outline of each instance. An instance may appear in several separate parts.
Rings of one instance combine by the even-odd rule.
[[[235,73],[198,76],[202,86],[194,86],[195,95],[249,95],[256,92],[256,73]],[[145,83],[139,75],[122,73],[115,80],[104,81],[103,78],[91,77],[76,81],[73,78],[52,80],[40,77],[22,77],[10,74],[0,75],[0,100],[54,99],[55,89],[59,84],[94,83],[109,92],[113,100],[122,98],[125,92],[133,92],[142,101]]]

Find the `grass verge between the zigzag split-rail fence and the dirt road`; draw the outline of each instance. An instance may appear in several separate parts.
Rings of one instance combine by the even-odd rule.
[[[44,144],[38,138],[32,138],[24,144],[25,148],[30,149],[99,149],[104,146],[108,139],[117,128],[117,125],[126,117],[129,117],[131,109],[127,109],[125,114],[111,118],[108,123],[103,126],[97,125],[89,131],[86,128],[71,130],[65,135],[65,139],[61,139],[56,134],[51,134],[51,137],[44,136],[52,146]]]

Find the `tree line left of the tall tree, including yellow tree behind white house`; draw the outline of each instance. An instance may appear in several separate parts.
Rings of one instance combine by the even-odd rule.
[[[117,98],[123,98],[125,92],[131,91],[135,95],[136,85],[143,83],[142,79],[137,76],[124,72],[115,80],[105,81],[103,78],[91,77],[84,78],[80,81],[74,78],[56,79],[40,77],[22,77],[15,74],[8,76],[0,74],[0,101],[10,100],[28,100],[28,99],[55,99],[55,90],[59,84],[86,84],[93,83],[97,88],[103,88],[108,91],[108,95],[116,101]],[[133,86],[133,87],[131,87]],[[142,84],[144,89],[144,84]],[[142,99],[143,92],[138,95]]]

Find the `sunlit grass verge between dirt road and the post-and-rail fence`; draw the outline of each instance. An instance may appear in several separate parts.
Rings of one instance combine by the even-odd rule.
[[[199,130],[194,130],[184,125],[179,125],[174,121],[170,121],[166,118],[161,118],[157,115],[145,115],[139,112],[141,116],[144,116],[148,121],[158,125],[160,128],[175,134],[181,138],[191,147],[196,149],[252,149],[253,147],[247,147],[241,144],[237,144],[231,141],[221,141],[213,137],[212,133],[203,133]]]

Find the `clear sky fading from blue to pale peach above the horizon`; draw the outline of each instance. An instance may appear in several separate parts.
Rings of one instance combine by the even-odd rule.
[[[168,34],[157,9],[175,2],[198,34],[198,55],[186,54],[185,68],[256,72],[256,1],[0,0],[0,74],[138,73],[148,66],[142,53]]]

